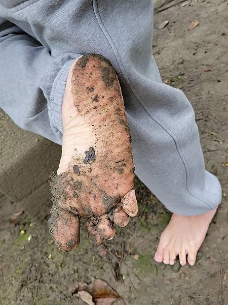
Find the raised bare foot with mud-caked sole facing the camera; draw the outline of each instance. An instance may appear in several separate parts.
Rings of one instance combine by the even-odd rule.
[[[109,60],[80,57],[71,67],[62,106],[62,157],[51,182],[49,220],[57,246],[80,243],[79,216],[93,246],[137,214],[134,164],[120,84]]]

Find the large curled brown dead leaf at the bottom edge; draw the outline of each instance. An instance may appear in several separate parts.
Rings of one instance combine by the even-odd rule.
[[[71,293],[86,291],[93,297],[95,305],[111,305],[120,296],[104,281],[96,279],[89,285],[76,283]]]

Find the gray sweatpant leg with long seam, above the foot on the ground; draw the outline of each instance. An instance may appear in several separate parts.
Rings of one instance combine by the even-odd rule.
[[[53,57],[94,52],[111,60],[123,90],[136,173],[169,210],[198,215],[219,204],[220,184],[205,171],[193,108],[180,90],[162,83],[152,55],[149,0],[30,0],[2,13]],[[53,119],[61,125],[55,114]]]

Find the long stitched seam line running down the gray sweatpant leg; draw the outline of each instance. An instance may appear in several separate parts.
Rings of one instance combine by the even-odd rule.
[[[100,16],[100,13],[99,13],[99,10],[98,10],[98,6],[97,6],[97,0],[92,0],[92,4],[93,4],[93,11],[94,11],[94,14],[95,14],[95,17],[96,17],[96,20],[98,22],[98,25],[101,29],[101,31],[103,32],[105,38],[107,39],[116,59],[117,59],[117,63],[118,63],[118,66],[119,66],[119,69],[121,71],[121,75],[123,77],[123,79],[126,81],[126,83],[129,85],[130,89],[131,89],[131,92],[133,93],[135,99],[138,101],[138,103],[142,106],[142,108],[145,110],[145,112],[148,114],[148,116],[153,120],[155,121],[156,124],[158,124],[174,141],[175,143],[175,147],[176,147],[176,150],[177,150],[177,154],[179,155],[182,163],[183,163],[183,166],[184,166],[184,169],[185,169],[185,173],[186,173],[186,190],[187,192],[193,196],[194,198],[200,200],[201,202],[203,202],[204,204],[206,204],[210,209],[212,209],[212,207],[207,203],[205,202],[204,200],[198,198],[197,196],[193,195],[189,190],[188,190],[188,187],[187,187],[187,180],[188,180],[188,170],[187,170],[187,163],[186,161],[184,160],[184,157],[179,149],[179,143],[178,143],[178,140],[177,138],[175,137],[174,134],[172,134],[171,131],[169,131],[158,119],[154,118],[153,115],[151,115],[148,107],[143,103],[143,101],[140,100],[134,86],[131,84],[131,82],[129,81],[128,77],[127,77],[127,74],[126,74],[126,71],[125,71],[125,68],[124,68],[124,65],[123,65],[123,62],[122,62],[122,59],[121,59],[121,56],[119,54],[119,51],[115,45],[115,43],[113,42],[110,34],[108,33],[102,19],[101,19],[101,16]],[[119,60],[118,58],[119,57]],[[121,63],[121,66],[120,66],[120,63]]]

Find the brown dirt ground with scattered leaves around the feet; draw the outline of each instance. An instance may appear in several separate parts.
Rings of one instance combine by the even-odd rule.
[[[170,214],[139,181],[138,217],[97,249],[88,245],[83,228],[81,246],[69,254],[54,245],[48,233],[48,212],[46,219],[25,215],[15,225],[10,219],[23,207],[2,196],[0,304],[83,305],[69,290],[77,281],[90,283],[95,278],[105,280],[122,297],[117,305],[228,304],[228,3],[162,3],[156,3],[154,54],[163,81],[181,88],[192,102],[207,170],[218,176],[223,188],[222,203],[196,265],[171,267],[154,262]],[[159,29],[165,20],[168,25]],[[199,25],[188,31],[193,20],[199,20]],[[40,209],[48,211],[46,206]]]

